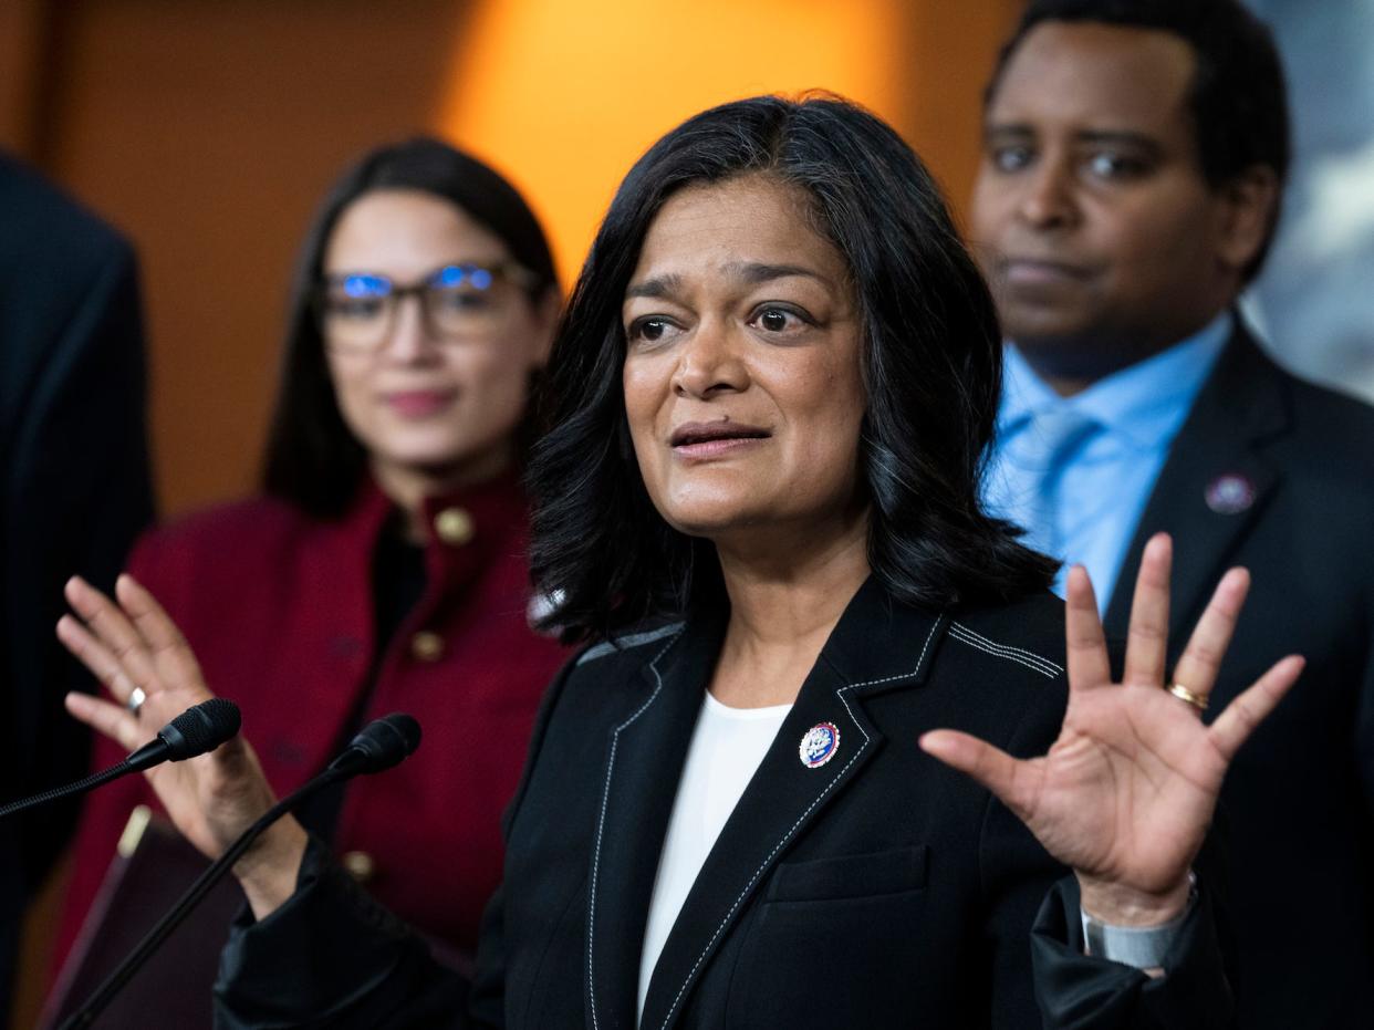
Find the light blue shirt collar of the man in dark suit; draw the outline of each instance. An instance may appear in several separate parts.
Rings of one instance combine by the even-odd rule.
[[[998,431],[1015,434],[1036,415],[1063,407],[1092,416],[1135,446],[1158,446],[1183,424],[1231,328],[1231,313],[1221,312],[1191,336],[1099,379],[1073,397],[1059,397],[1009,341]]]

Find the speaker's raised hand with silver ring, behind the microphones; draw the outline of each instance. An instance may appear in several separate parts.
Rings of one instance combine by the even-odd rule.
[[[133,577],[121,575],[115,599],[81,578],[66,597],[80,617],[63,615],[58,639],[104,684],[113,700],[69,694],[67,711],[129,751],[165,724],[213,696],[190,644],[162,606]],[[129,698],[140,688],[137,711]],[[243,737],[144,773],[177,829],[216,858],[273,803],[257,755]],[[305,853],[305,831],[290,816],[272,825],[234,867],[258,919],[286,901]]]

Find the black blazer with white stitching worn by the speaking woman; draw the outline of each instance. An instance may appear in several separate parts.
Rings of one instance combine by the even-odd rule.
[[[467,997],[506,1027],[635,1027],[646,913],[724,619],[585,651],[554,684],[508,816],[506,882]],[[1062,606],[937,615],[870,582],[849,604],[702,868],[643,1027],[1028,1027],[1226,1023],[1206,913],[1149,981],[1081,957],[1076,900],[1025,827],[916,740],[954,726],[1015,754],[1057,736]],[[840,731],[808,768],[802,735]],[[398,814],[398,817],[404,817]],[[223,1026],[464,1025],[412,938],[312,854],[301,890],[240,926]],[[444,1022],[445,1007],[449,1007]]]

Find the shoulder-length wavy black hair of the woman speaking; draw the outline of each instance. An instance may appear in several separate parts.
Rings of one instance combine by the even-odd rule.
[[[874,574],[903,602],[933,606],[1044,589],[1057,563],[978,503],[1002,338],[929,172],[896,132],[846,100],[760,96],[698,114],[655,143],[592,243],[548,367],[552,428],[528,475],[530,569],[556,602],[547,625],[569,641],[605,636],[723,596],[714,551],[668,526],[635,463],[621,304],[664,202],[752,173],[805,191],[855,284]]]

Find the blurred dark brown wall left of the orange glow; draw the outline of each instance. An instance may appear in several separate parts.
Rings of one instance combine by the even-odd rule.
[[[430,124],[462,8],[5,3],[5,49],[30,58],[0,87],[5,141],[139,249],[162,508],[240,494],[313,203],[360,150]]]

